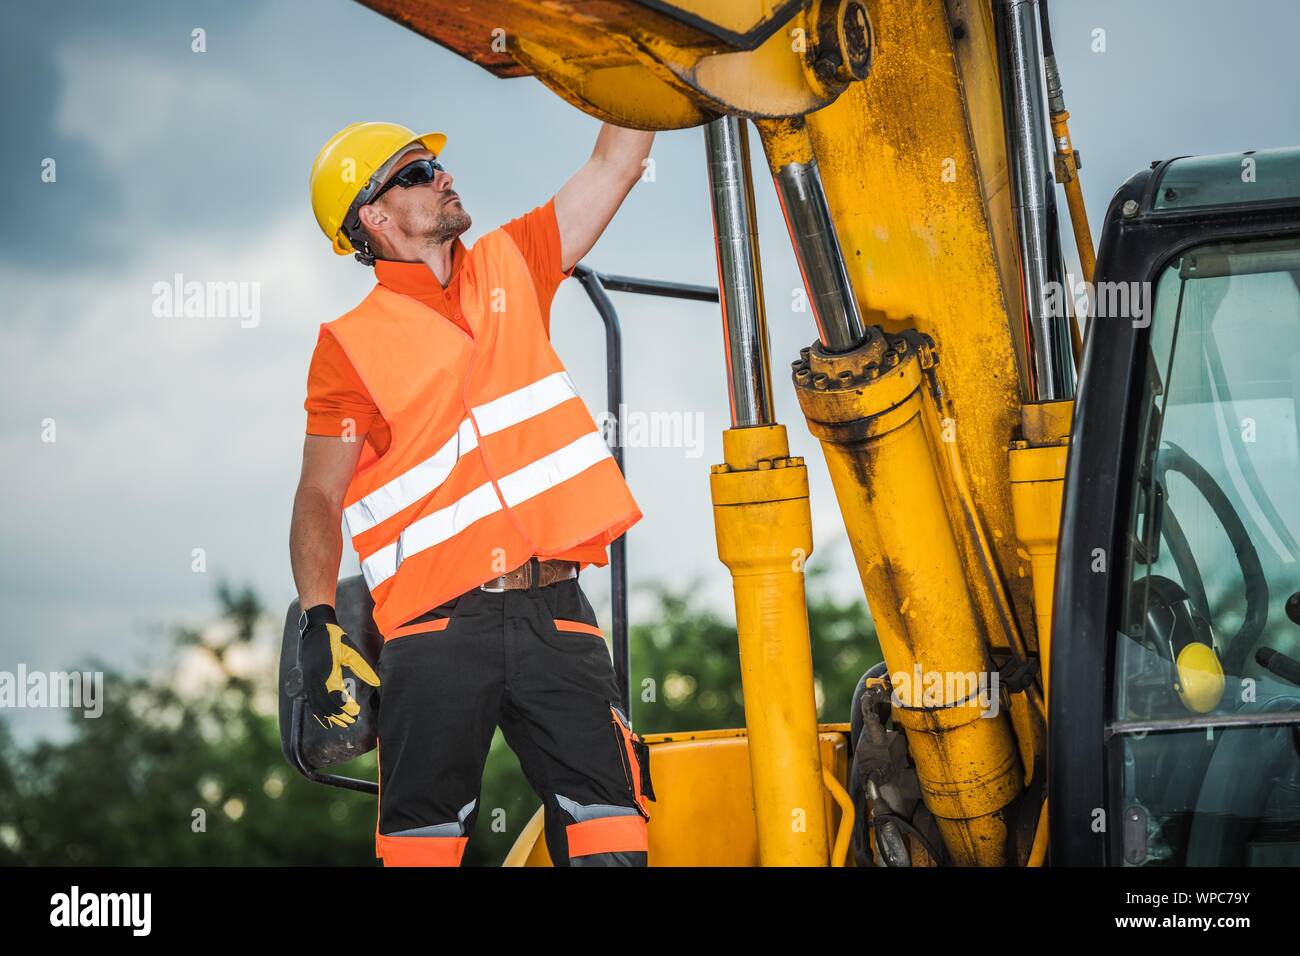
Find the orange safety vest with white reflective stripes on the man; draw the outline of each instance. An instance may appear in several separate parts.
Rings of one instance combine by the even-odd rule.
[[[384,635],[534,554],[606,545],[641,519],[515,241],[488,233],[460,268],[472,338],[382,285],[321,326],[393,432],[382,455],[365,444],[343,498]]]

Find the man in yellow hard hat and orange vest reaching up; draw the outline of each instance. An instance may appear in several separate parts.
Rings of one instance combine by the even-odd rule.
[[[346,672],[378,688],[385,865],[460,864],[498,724],[556,865],[646,862],[645,745],[577,581],[641,511],[551,349],[550,306],[653,138],[603,126],[550,202],[471,247],[443,134],[352,124],[312,166],[317,222],[377,284],[320,329],[290,557],[316,719],[355,721]],[[384,636],[373,667],[334,613],[341,518]]]

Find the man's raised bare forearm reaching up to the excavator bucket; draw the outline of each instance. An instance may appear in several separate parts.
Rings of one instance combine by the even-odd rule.
[[[581,169],[555,194],[560,229],[560,268],[568,272],[592,251],[628,193],[641,178],[654,133],[604,124],[595,150]]]

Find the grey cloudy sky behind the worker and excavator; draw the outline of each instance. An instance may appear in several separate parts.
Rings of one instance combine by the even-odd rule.
[[[204,53],[191,52],[195,27]],[[1150,160],[1300,143],[1297,4],[1056,0],[1053,27],[1096,229],[1114,189]],[[1105,53],[1091,48],[1097,27]],[[498,81],[344,0],[14,4],[0,70],[0,670],[90,654],[144,666],[165,627],[211,617],[220,579],[254,585],[273,609],[292,597],[307,363],[317,325],[373,281],[329,252],[312,219],[307,170],[324,139],[360,118],[445,130],[477,235],[554,194],[598,124],[530,78]],[[634,190],[586,261],[714,284],[702,134],[660,134],[654,156],[656,181]],[[798,276],[770,179],[755,172],[777,410],[812,476],[811,563],[836,593],[859,594],[781,372],[814,330],[789,315]],[[155,285],[177,274],[259,284],[257,321],[156,315]],[[702,425],[698,447],[628,450],[646,514],[629,535],[632,584],[696,583],[703,604],[731,614],[707,481],[728,424],[718,310],[618,304],[629,405]],[[602,407],[601,325],[576,282],[560,289],[551,326]],[[584,572],[584,587],[601,606],[603,572]],[[23,734],[55,727],[14,717]]]

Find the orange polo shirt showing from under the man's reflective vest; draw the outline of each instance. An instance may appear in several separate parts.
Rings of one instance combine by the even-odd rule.
[[[555,221],[555,200],[551,199],[545,206],[511,220],[502,229],[515,241],[528,263],[533,285],[537,287],[537,304],[542,321],[546,333],[550,334],[551,300],[559,284],[572,274],[572,269],[564,272],[560,268],[560,230]],[[472,334],[469,323],[460,312],[460,265],[465,260],[467,251],[460,239],[452,243],[451,280],[446,287],[424,263],[393,263],[381,259],[374,263],[374,278],[395,293],[410,295],[436,308]],[[389,447],[391,441],[389,423],[384,420],[361,377],[329,330],[320,337],[312,354],[304,407],[307,434],[343,434],[344,425],[351,423],[352,433],[364,434],[376,454],[382,455]],[[550,557],[576,561],[580,564],[604,566],[608,562],[604,545],[590,544]]]

